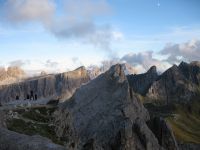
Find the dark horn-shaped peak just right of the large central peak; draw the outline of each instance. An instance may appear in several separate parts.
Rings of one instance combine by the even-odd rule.
[[[137,93],[145,95],[152,85],[152,83],[158,78],[156,66],[152,66],[146,73],[138,75],[127,75],[127,79],[130,87]]]

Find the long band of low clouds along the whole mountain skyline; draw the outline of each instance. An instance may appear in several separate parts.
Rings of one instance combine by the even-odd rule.
[[[159,54],[163,57],[160,59],[156,57]],[[121,57],[115,57],[105,59],[98,64],[90,63],[85,64],[80,57],[74,57],[71,59],[62,60],[15,60],[9,62],[9,66],[20,66],[22,68],[30,68],[40,73],[41,71],[47,71],[50,73],[64,72],[75,69],[79,66],[85,65],[89,68],[96,68],[98,66],[103,67],[103,70],[109,69],[110,66],[117,63],[128,63],[132,65],[137,73],[146,72],[151,66],[157,66],[159,72],[165,71],[173,64],[178,64],[181,61],[195,61],[200,60],[200,41],[191,40],[180,44],[167,44],[163,49],[158,52],[144,51],[139,53],[128,53]]]

